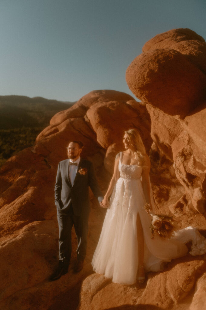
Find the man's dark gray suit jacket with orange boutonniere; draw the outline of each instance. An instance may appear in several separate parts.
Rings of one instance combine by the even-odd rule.
[[[88,213],[90,211],[89,186],[100,202],[103,195],[90,161],[80,159],[73,185],[69,178],[69,159],[59,162],[55,183],[57,215],[67,214],[71,205],[77,216]]]

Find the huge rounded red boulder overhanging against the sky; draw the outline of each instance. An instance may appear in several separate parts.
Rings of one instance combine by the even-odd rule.
[[[186,29],[187,36],[182,38],[183,30],[171,30],[151,39],[126,71],[128,86],[138,99],[181,117],[201,104],[206,96],[206,65],[194,61],[201,56],[201,63],[206,63],[206,43],[196,35],[196,41],[204,46],[199,51],[198,43],[194,42],[195,33]]]

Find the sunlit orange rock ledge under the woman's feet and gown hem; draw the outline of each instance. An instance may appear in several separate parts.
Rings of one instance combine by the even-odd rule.
[[[182,301],[191,293],[195,281],[200,273],[206,268],[205,260],[200,257],[177,259],[170,263],[169,268],[164,272],[155,274],[150,272],[147,285],[143,286],[123,286],[112,283],[103,275],[93,274],[87,277],[81,289],[81,303],[79,310],[104,310],[104,309],[189,309],[181,305]],[[200,286],[203,278],[198,280],[195,302],[198,306],[198,297],[205,304],[204,287]],[[202,293],[202,294],[201,294]],[[190,301],[191,302],[191,301]],[[191,308],[195,310],[198,308]],[[204,309],[199,307],[199,309]]]

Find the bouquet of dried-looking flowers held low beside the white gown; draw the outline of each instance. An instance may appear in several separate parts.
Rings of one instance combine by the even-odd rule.
[[[150,230],[152,233],[152,239],[154,235],[158,234],[160,237],[171,237],[174,231],[174,221],[172,216],[168,215],[157,215],[151,211],[151,206],[146,203],[144,209],[151,216]]]

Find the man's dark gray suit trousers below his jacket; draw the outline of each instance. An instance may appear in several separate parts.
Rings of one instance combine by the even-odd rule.
[[[72,226],[77,236],[77,259],[84,260],[86,256],[89,212],[77,216],[72,206],[68,214],[57,215],[59,224],[59,260],[69,265],[72,253]]]

